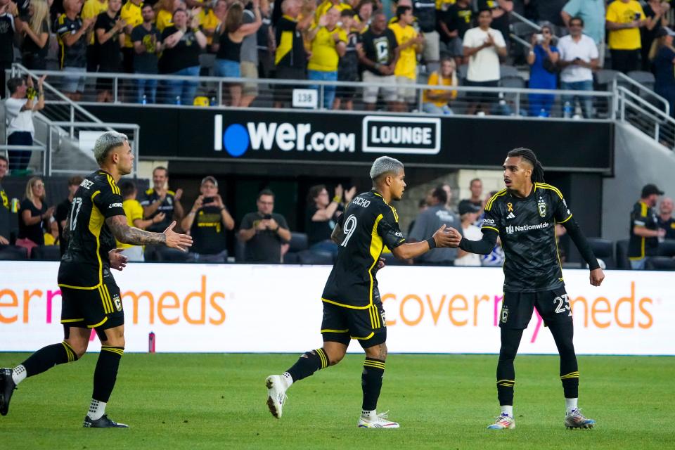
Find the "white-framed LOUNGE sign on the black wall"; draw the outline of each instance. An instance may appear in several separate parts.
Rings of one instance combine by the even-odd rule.
[[[436,155],[441,150],[441,120],[438,117],[364,117],[364,153]]]

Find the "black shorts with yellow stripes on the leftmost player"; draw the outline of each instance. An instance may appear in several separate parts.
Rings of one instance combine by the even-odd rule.
[[[95,288],[61,287],[61,299],[64,326],[107,330],[124,325],[120,288],[108,269],[103,269],[103,283]]]

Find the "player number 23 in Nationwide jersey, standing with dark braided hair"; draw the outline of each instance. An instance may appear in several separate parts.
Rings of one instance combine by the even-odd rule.
[[[518,352],[522,331],[534,308],[551,330],[560,353],[560,380],[565,393],[565,426],[592,428],[595,420],[577,409],[579,368],[574,353],[572,310],[565,293],[563,268],[558,257],[555,224],[563,224],[589,264],[591,284],[599,286],[605,275],[586,238],[572,218],[563,194],[544,183],[544,169],[532,150],[517,148],[508,153],[503,165],[503,189],[485,205],[479,241],[463,238],[462,250],[487,255],[497,236],[506,255],[504,262],[504,300],[499,316],[501,349],[497,364],[497,394],[501,416],[489,425],[491,430],[515,428],[513,420],[513,359]]]

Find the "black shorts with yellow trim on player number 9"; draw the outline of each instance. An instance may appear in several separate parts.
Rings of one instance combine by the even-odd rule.
[[[373,303],[366,309],[340,307],[323,302],[321,335],[324,342],[340,342],[345,345],[356,339],[364,349],[382,344],[387,340],[382,302]]]

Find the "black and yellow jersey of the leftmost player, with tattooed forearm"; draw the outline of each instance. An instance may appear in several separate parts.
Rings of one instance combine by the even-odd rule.
[[[113,176],[98,170],[86,176],[72,200],[68,249],[61,257],[58,285],[65,288],[96,289],[103,280],[103,267],[110,266],[108,252],[115,238],[105,219],[124,216],[122,195]]]

